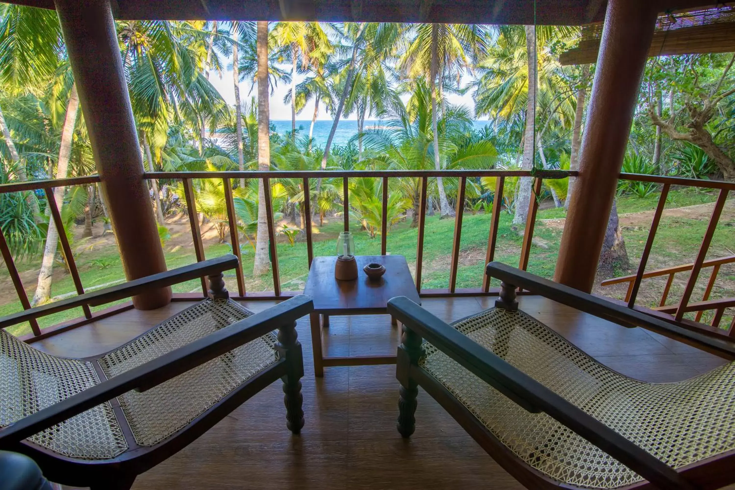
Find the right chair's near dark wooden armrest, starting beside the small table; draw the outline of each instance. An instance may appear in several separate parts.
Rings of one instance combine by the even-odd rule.
[[[409,298],[401,296],[389,300],[388,313],[519,406],[531,412],[545,412],[654,485],[661,489],[694,489],[673,468]]]

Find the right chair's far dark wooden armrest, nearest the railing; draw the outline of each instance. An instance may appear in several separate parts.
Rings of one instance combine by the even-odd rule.
[[[516,269],[501,262],[490,262],[487,264],[487,275],[498,278],[506,284],[522,287],[537,295],[554,300],[557,303],[571,306],[579,311],[593,314],[595,317],[609,320],[612,323],[625,327],[643,327],[648,330],[666,336],[676,336],[688,339],[695,345],[700,345],[706,350],[717,353],[728,359],[735,358],[735,343],[725,339],[718,339],[705,334],[682,328],[673,323],[665,322],[656,317],[642,313],[634,309],[620,306],[612,301],[589,295],[573,287],[564,286],[537,275],[527,273],[525,270]]]

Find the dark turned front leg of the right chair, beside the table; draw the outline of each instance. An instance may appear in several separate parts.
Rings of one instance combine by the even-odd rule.
[[[401,383],[398,391],[398,433],[404,437],[410,437],[416,430],[416,397],[418,394],[418,383],[411,378],[411,367],[417,365],[423,349],[421,348],[421,337],[411,329],[403,325],[401,345],[398,347],[396,359],[395,377]]]

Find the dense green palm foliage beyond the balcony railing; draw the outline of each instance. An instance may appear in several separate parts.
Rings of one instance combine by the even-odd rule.
[[[574,169],[595,72],[594,65],[559,63],[578,40],[571,27],[118,21],[117,28],[147,170]],[[733,179],[734,60],[733,54],[651,58],[623,170]],[[229,71],[234,105],[210,82]],[[241,101],[242,84],[259,89],[249,101]],[[291,131],[284,134],[268,124],[268,97],[279,84],[291,109]],[[464,95],[473,107],[455,103]],[[93,173],[78,109],[54,12],[0,4],[0,182]],[[295,123],[304,110],[312,121],[308,134]],[[325,112],[333,123],[322,144],[314,124]],[[486,117],[478,128],[476,119]],[[358,129],[347,144],[334,145],[340,118],[355,118]],[[366,128],[367,119],[381,122]],[[404,219],[415,224],[420,184],[390,179],[388,228]],[[223,181],[192,185],[201,220],[229,241]],[[528,178],[505,180],[503,204],[515,224],[526,219],[530,185]],[[556,206],[573,193],[568,179],[545,185]],[[271,179],[270,186],[279,233],[291,244],[303,239],[303,180]],[[348,185],[349,213],[373,238],[381,231],[382,186],[372,178]],[[494,190],[495,179],[467,179],[468,209],[489,209]],[[621,181],[618,190],[643,197],[656,186]],[[262,256],[263,190],[255,179],[235,179],[232,192],[243,253]],[[309,192],[315,226],[343,212],[340,178],[318,179]],[[429,179],[431,210],[442,216],[453,213],[456,193],[456,179]],[[57,187],[54,198],[66,223],[84,220],[89,230],[93,220],[110,223],[96,187]],[[183,184],[151,181],[151,200],[165,242],[167,222],[185,210]],[[0,195],[0,228],[13,255],[43,254],[38,302],[49,299],[57,254],[46,209],[41,193]],[[256,260],[254,271],[264,272],[262,265]]]

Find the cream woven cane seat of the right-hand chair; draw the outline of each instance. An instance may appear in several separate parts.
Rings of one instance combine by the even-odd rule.
[[[522,311],[490,309],[453,323],[500,356],[673,468],[735,449],[735,364],[678,383],[610,370]],[[545,413],[530,413],[429,343],[420,367],[509,450],[551,479],[612,489],[642,478]]]

